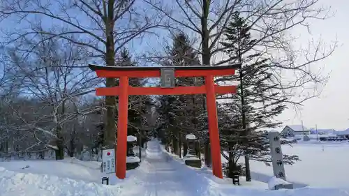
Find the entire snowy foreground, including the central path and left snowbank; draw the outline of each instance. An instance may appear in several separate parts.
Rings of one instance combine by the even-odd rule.
[[[209,169],[193,169],[165,153],[156,140],[148,143],[147,155],[126,179],[110,174],[110,186],[101,185],[100,163],[80,160],[10,161],[0,163],[0,195],[50,196],[348,196],[349,188],[298,188],[267,190],[267,184],[232,186],[217,179]],[[322,151],[322,149],[320,149]],[[327,148],[325,148],[325,152]],[[301,157],[302,158],[302,157]],[[315,160],[317,161],[317,160]],[[253,165],[254,166],[254,165]],[[289,172],[290,173],[290,172]],[[302,174],[302,172],[299,172]],[[267,172],[266,172],[267,174]],[[298,179],[302,179],[302,176]]]

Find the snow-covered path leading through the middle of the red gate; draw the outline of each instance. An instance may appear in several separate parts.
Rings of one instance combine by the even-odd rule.
[[[161,150],[158,142],[148,142],[147,156],[134,175],[122,182],[121,193],[128,196],[138,195],[216,195],[211,194],[214,182],[205,179],[192,169],[183,171],[184,165],[172,160]],[[136,189],[130,187],[137,186]]]

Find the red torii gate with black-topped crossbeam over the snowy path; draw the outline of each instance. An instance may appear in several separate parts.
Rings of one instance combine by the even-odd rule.
[[[218,86],[215,76],[234,75],[240,64],[229,66],[173,66],[173,67],[111,67],[89,65],[98,77],[119,78],[119,86],[97,88],[97,96],[119,96],[116,175],[126,176],[128,96],[134,95],[182,95],[206,94],[209,120],[209,141],[211,143],[212,172],[223,178],[221,165],[221,144],[219,143],[216,94],[236,93],[237,86]],[[161,77],[161,87],[133,87],[128,78]],[[202,86],[174,86],[175,77],[205,77]]]

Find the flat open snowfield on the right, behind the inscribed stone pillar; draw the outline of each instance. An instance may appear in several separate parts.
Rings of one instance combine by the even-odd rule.
[[[283,153],[295,154],[302,161],[285,165],[288,181],[297,187],[349,188],[348,142],[299,142],[283,145]],[[272,167],[251,161],[253,179],[268,181],[273,175]]]

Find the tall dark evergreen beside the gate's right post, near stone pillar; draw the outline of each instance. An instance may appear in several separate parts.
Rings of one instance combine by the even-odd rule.
[[[222,111],[221,118],[225,118],[225,122],[228,119],[230,123],[220,123],[221,137],[223,149],[229,151],[229,156],[223,156],[232,164],[230,169],[235,169],[237,160],[245,156],[247,181],[251,181],[249,158],[265,163],[270,161],[264,131],[281,125],[274,118],[285,110],[287,100],[274,90],[269,59],[258,52],[251,52],[255,40],[249,30],[246,20],[235,13],[225,29],[226,39],[222,45],[227,48],[225,53],[230,56],[231,62],[242,63],[242,67],[237,75],[220,79],[239,81],[237,94],[223,104],[227,109]],[[297,159],[297,156],[285,156],[285,163],[292,164]]]

